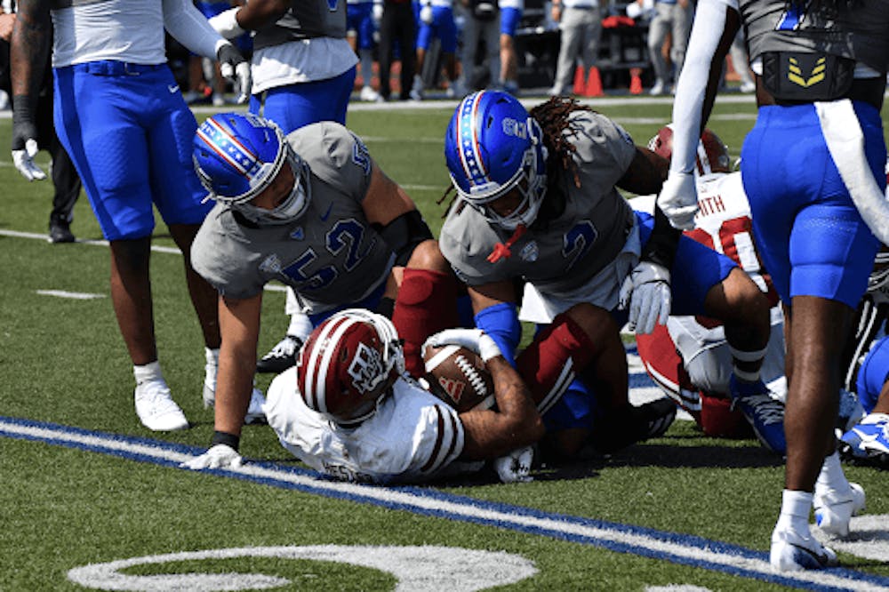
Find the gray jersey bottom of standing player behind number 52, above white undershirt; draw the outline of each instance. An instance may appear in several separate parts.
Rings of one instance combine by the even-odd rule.
[[[253,37],[253,50],[311,37],[346,37],[346,3],[330,0],[292,0],[275,22],[263,25]]]

